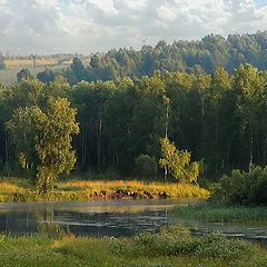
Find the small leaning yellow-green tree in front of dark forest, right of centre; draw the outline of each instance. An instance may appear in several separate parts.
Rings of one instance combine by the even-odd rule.
[[[191,154],[179,151],[169,139],[160,139],[162,158],[159,160],[160,167],[167,167],[170,175],[180,182],[197,182],[199,176],[199,164],[190,162]]]

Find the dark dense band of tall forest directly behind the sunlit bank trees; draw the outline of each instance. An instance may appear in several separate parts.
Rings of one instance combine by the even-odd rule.
[[[40,116],[55,121],[49,113],[58,111],[51,101],[58,101],[55,107],[61,111],[59,103],[77,109],[80,131],[72,141],[77,170],[136,174],[140,155],[159,161],[159,140],[166,135],[178,149],[190,151],[192,160],[201,161],[206,177],[247,169],[249,164],[267,164],[267,71],[250,65],[241,65],[233,75],[219,67],[211,75],[155,71],[140,79],[80,81],[75,86],[63,77],[47,83],[29,78],[1,87],[2,170],[18,169],[16,142],[8,126],[16,126],[16,118],[27,120],[29,108],[42,110]],[[23,116],[18,109],[24,110]],[[73,110],[70,112],[73,116]],[[66,127],[67,117],[60,118],[57,116]],[[17,136],[22,137],[20,146],[34,139],[26,126],[16,128]]]

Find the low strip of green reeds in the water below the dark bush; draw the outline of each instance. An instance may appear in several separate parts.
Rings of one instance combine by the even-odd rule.
[[[225,207],[199,204],[177,207],[172,215],[209,222],[267,222],[267,207]]]

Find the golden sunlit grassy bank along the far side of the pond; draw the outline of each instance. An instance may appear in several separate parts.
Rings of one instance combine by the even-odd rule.
[[[2,179],[0,201],[68,201],[90,199],[207,198],[206,189],[194,185],[122,180],[71,180],[57,182],[51,192],[38,195],[26,179]]]

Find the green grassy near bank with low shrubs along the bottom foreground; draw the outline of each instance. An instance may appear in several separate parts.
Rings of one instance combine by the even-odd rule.
[[[0,236],[0,266],[267,266],[267,251],[217,234],[191,237],[180,229],[130,238]]]

